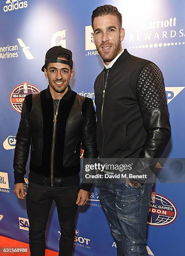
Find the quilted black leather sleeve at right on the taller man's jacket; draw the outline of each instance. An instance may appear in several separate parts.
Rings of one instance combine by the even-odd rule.
[[[135,167],[140,174],[146,174],[147,170],[150,172],[150,166],[144,159],[160,158],[171,138],[164,79],[160,69],[153,63],[145,65],[139,74],[137,99],[147,139],[139,154],[142,160]]]

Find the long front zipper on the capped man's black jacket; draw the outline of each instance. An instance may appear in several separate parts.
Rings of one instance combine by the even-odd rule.
[[[60,105],[60,100],[58,101],[57,108],[55,109],[55,102],[53,100],[53,137],[52,137],[52,143],[51,143],[51,187],[53,187],[53,180],[54,180],[54,153],[55,153],[55,144],[56,144],[56,124],[57,124],[59,105]]]

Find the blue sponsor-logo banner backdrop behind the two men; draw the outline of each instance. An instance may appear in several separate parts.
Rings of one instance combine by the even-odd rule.
[[[184,0],[1,0],[0,235],[28,243],[25,200],[18,200],[13,193],[15,135],[25,95],[47,87],[41,72],[45,54],[52,46],[61,45],[73,52],[72,89],[94,100],[94,80],[103,63],[93,42],[91,14],[97,6],[107,3],[117,6],[122,13],[126,31],[123,48],[155,62],[164,75],[172,139],[163,157],[185,156]],[[157,167],[161,172],[164,169],[160,164]],[[179,177],[178,170],[175,171],[173,177]],[[28,172],[29,168],[25,190]],[[184,184],[163,182],[155,184],[153,191],[148,254],[184,255]],[[58,251],[60,235],[53,204],[46,230],[47,248]],[[95,187],[86,206],[79,207],[74,245],[76,256],[116,256],[116,244]]]

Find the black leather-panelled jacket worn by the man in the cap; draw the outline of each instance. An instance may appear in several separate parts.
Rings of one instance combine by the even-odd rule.
[[[14,154],[15,183],[24,183],[30,151],[29,181],[43,184],[43,177],[79,178],[81,144],[84,158],[96,158],[96,114],[93,101],[72,91],[63,95],[55,109],[49,86],[23,102]],[[57,115],[56,111],[57,111]],[[30,149],[31,145],[31,149]],[[92,184],[81,184],[90,190]]]

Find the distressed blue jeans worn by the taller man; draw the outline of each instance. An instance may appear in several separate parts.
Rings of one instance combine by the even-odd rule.
[[[141,188],[115,183],[110,178],[96,182],[118,256],[148,256],[147,218],[154,181],[152,175]]]

